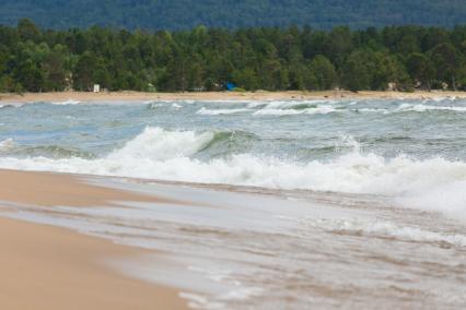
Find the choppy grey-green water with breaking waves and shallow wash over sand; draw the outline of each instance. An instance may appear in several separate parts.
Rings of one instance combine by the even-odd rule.
[[[195,307],[466,306],[465,99],[4,105],[0,167],[187,182],[89,177],[196,207],[14,216],[175,254],[125,270]]]

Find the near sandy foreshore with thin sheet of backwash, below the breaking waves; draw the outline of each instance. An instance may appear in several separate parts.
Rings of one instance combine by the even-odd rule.
[[[0,180],[0,216],[14,218],[0,218],[1,309],[183,309],[178,296],[195,309],[466,305],[465,226],[383,196],[12,170]]]

